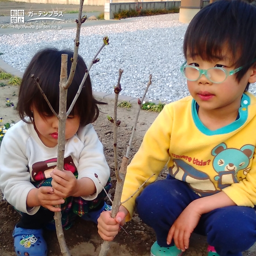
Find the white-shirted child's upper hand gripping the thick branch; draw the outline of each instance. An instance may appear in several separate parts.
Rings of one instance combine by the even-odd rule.
[[[66,198],[77,193],[77,179],[71,171],[54,169],[50,174],[53,178],[54,194]]]

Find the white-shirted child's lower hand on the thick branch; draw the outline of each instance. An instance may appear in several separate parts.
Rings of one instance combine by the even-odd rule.
[[[40,187],[35,191],[35,197],[38,200],[38,204],[49,209],[53,212],[61,211],[61,208],[56,208],[54,205],[64,203],[64,199],[54,194],[52,187]]]

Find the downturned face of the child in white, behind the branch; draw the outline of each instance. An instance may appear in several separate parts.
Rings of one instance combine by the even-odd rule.
[[[36,108],[32,108],[34,115],[35,130],[45,146],[53,148],[58,143],[58,126],[59,121],[55,115],[40,114]],[[65,139],[72,138],[80,125],[78,115],[69,115],[66,121]]]

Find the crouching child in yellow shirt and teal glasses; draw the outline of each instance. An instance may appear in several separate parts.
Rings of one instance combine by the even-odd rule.
[[[256,242],[256,7],[219,0],[197,13],[184,38],[191,96],[168,104],[128,166],[122,201],[167,163],[167,179],[98,220],[112,240],[135,208],[156,233],[151,256],[180,256],[192,232],[208,256],[242,256]],[[154,176],[154,177],[155,177]]]

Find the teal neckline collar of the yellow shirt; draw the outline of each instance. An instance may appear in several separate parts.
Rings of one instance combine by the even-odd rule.
[[[242,100],[241,100],[241,107],[239,108],[239,119],[236,121],[230,123],[227,126],[224,126],[222,128],[219,128],[215,131],[209,130],[207,127],[203,125],[201,120],[198,117],[197,111],[196,111],[196,101],[193,99],[192,101],[192,117],[195,122],[195,126],[205,135],[220,135],[220,134],[227,134],[235,131],[236,129],[240,128],[247,120],[248,118],[248,106],[250,105],[250,98],[247,94],[243,94]]]

